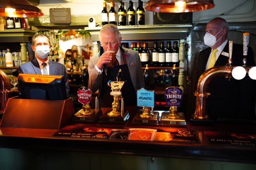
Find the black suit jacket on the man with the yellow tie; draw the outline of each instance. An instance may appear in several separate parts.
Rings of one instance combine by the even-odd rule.
[[[228,43],[223,49],[228,53]],[[222,51],[222,52],[223,52]],[[196,80],[205,71],[206,63],[210,55],[211,48],[202,50],[199,53],[196,70]],[[242,66],[243,45],[233,44],[232,66]],[[224,66],[228,63],[228,57],[220,55],[214,66]],[[248,48],[247,65],[255,66],[254,53],[252,48]],[[196,88],[195,88],[196,89]],[[232,118],[232,119],[255,119],[255,98],[256,80],[252,80],[246,75],[242,80],[234,78],[216,77],[209,86],[210,96],[206,99],[206,114],[210,117]]]

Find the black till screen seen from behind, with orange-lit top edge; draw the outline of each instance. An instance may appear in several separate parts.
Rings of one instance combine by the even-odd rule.
[[[18,89],[23,99],[67,99],[64,76],[20,73]]]

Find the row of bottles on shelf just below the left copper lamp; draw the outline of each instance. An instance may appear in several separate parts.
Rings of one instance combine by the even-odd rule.
[[[27,18],[0,17],[0,31],[4,31],[4,29],[28,29],[28,27]]]

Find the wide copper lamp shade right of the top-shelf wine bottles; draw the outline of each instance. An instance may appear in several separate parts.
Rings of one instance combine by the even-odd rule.
[[[145,9],[153,12],[195,12],[213,8],[213,0],[149,0]]]

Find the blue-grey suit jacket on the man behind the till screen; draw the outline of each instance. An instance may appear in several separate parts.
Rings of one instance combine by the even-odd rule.
[[[26,74],[42,74],[37,59],[33,59],[28,63],[19,66],[18,73]],[[70,87],[68,82],[68,74],[63,64],[49,60],[49,74],[56,76],[64,76],[67,96],[69,97]]]

